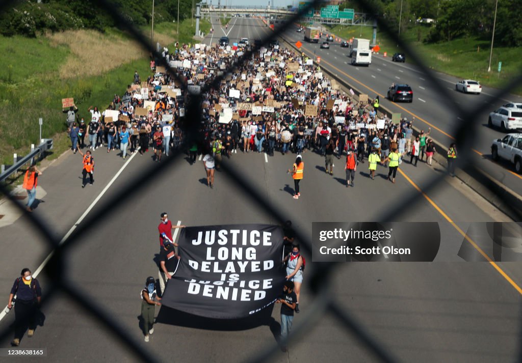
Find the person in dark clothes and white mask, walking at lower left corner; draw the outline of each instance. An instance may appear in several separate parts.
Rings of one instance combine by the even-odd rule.
[[[14,297],[16,296],[16,304]],[[42,288],[37,279],[31,276],[31,271],[27,268],[23,269],[20,277],[15,280],[7,308],[15,306],[15,338],[11,345],[17,347],[20,345],[20,339],[27,331],[27,337],[32,337],[36,328],[36,313],[42,299]]]

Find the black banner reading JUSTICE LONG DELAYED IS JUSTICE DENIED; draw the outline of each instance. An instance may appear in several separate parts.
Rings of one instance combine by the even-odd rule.
[[[279,226],[186,227],[162,304],[202,317],[248,317],[274,303],[285,278]]]

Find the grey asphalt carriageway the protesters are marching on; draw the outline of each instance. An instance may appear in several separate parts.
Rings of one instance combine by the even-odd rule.
[[[223,33],[231,41],[241,37],[252,41],[265,34],[265,27],[257,20],[244,18],[232,19],[229,29],[215,30],[205,39],[207,44]],[[115,209],[102,222],[88,225],[88,233],[82,234],[65,256],[64,276],[89,301],[110,314],[136,345],[145,347],[159,361],[247,361],[267,347],[276,347],[271,328],[278,328],[279,307],[272,311],[271,328],[261,325],[234,331],[230,323],[210,329],[204,324],[161,322],[156,324],[149,343],[143,341],[139,329],[139,292],[147,276],[157,276],[153,259],[159,249],[157,225],[161,212],[168,212],[173,223],[187,226],[277,223],[224,172],[216,173],[215,189],[208,188],[203,164],[198,161],[189,165],[184,156],[169,165],[153,163],[150,152],[122,161],[102,148],[94,151],[95,183],[82,189],[80,156],[69,152],[44,171],[39,184],[46,195],[33,213],[51,226],[55,236],[62,237],[108,208],[111,196],[141,173],[163,168],[159,177],[129,191],[128,198],[112,205]],[[430,168],[423,163],[415,167],[405,162],[396,184],[386,181],[386,168],[378,166],[378,176],[371,180],[367,164],[360,164],[355,186],[346,188],[342,160],[335,161],[334,175],[330,176],[324,173],[324,159],[311,151],[303,154],[302,197],[293,200],[293,183],[286,170],[294,157],[239,152],[224,162],[309,237],[312,222],[379,221],[409,198],[410,203],[396,213],[395,221],[431,221],[441,227],[441,248],[435,262],[341,263],[324,281],[331,285],[331,297],[341,309],[352,314],[387,354],[400,362],[511,362],[516,358],[520,345],[520,264],[463,262],[457,256],[465,241],[462,233],[468,231],[471,222],[509,221],[505,215],[455,178],[445,178],[435,190],[424,192],[432,177],[444,173],[436,164]],[[419,243],[424,237],[419,235]],[[36,270],[49,249],[26,216],[0,228],[0,242],[0,287],[7,303],[9,289],[20,270]],[[317,268],[311,256],[306,258],[305,283]],[[45,273],[39,275],[39,280],[45,291],[49,286]],[[303,285],[301,313],[296,314],[294,324],[302,322],[315,301],[316,297]],[[34,337],[23,338],[20,345],[47,348],[48,356],[42,359],[139,361],[68,296],[54,296],[42,311],[44,326],[36,330]],[[336,314],[321,315],[320,309],[314,312],[314,324],[289,345],[288,352],[278,350],[269,361],[378,361],[343,327]],[[0,317],[2,329],[14,320],[13,313]],[[1,346],[8,347],[10,338]]]

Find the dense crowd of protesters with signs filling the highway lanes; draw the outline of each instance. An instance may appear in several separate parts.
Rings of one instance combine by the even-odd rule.
[[[247,51],[250,48],[205,44],[176,44],[173,53],[164,49],[164,62],[151,61],[146,81],[135,72],[133,84],[123,96],[115,95],[106,111],[89,107],[89,124],[83,117],[79,125],[70,124],[74,152],[87,146],[91,152],[100,147],[107,152],[120,149],[125,159],[127,148],[141,154],[152,149],[153,160],[159,162],[181,149],[192,164],[203,154],[210,187],[213,167],[219,169],[222,158],[231,158],[238,150],[269,156],[314,150],[325,155],[329,174],[334,157],[346,153],[347,187],[353,186],[355,168],[365,160],[372,179],[377,163],[382,163],[394,183],[406,154],[415,166],[419,159],[432,165],[436,148],[430,130],[413,138],[412,123],[406,118],[392,122],[377,114],[378,96],[355,101],[324,77],[311,59],[279,45],[260,47],[238,62]],[[157,67],[165,62],[177,72],[176,79]],[[233,71],[226,73],[228,69]],[[185,116],[193,93],[201,95],[199,120]],[[74,107],[64,111],[68,123],[77,111]],[[108,119],[108,111],[116,111],[117,117]],[[187,129],[197,132],[185,135]],[[448,159],[453,155],[456,158],[456,152],[448,150]]]

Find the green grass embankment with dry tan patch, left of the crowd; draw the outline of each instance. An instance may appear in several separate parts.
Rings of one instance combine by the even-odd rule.
[[[194,42],[191,19],[176,25],[155,26],[155,40],[171,46]],[[200,22],[208,32],[210,25]],[[146,33],[150,37],[149,32]],[[190,37],[188,34],[191,34]],[[173,47],[172,47],[173,48]],[[137,70],[142,79],[149,75],[148,52],[128,34],[108,30],[100,34],[91,30],[66,31],[41,35],[36,39],[0,37],[0,163],[12,164],[13,153],[25,155],[31,143],[39,144],[38,118],[43,118],[42,137],[53,138],[56,158],[70,147],[65,135],[62,98],[72,97],[80,117],[89,120],[89,106],[100,111],[122,94],[133,81]]]

